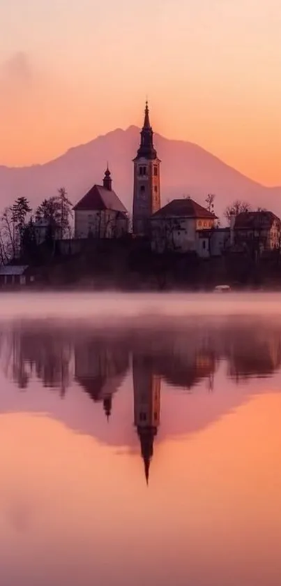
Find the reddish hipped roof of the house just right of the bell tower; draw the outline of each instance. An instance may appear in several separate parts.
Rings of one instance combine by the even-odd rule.
[[[153,214],[153,218],[169,218],[175,216],[182,218],[217,218],[215,214],[208,212],[205,207],[202,207],[202,205],[199,205],[199,203],[191,198],[174,199]]]

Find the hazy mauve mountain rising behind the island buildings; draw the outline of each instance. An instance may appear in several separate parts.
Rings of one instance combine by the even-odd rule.
[[[162,160],[162,205],[186,195],[204,205],[206,195],[215,193],[218,215],[234,199],[242,199],[281,216],[281,186],[266,187],[252,181],[192,142],[169,140],[158,134],[154,138]],[[61,186],[66,187],[75,204],[94,183],[102,182],[109,161],[114,189],[131,210],[132,159],[138,146],[139,129],[130,126],[126,131],[116,129],[98,136],[43,165],[0,166],[0,205],[3,208],[15,198],[26,196],[36,207]]]

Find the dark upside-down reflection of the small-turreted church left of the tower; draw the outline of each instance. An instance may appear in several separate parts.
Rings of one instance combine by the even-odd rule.
[[[128,353],[118,342],[93,338],[75,343],[75,379],[94,402],[103,403],[107,419],[127,368]]]

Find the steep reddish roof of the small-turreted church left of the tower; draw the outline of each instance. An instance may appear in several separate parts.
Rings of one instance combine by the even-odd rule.
[[[73,210],[114,210],[114,212],[127,213],[119,197],[113,189],[105,189],[102,185],[94,185],[73,207]]]

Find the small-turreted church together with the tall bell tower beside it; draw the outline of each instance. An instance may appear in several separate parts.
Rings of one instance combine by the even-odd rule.
[[[151,215],[160,210],[160,159],[153,145],[149,105],[144,110],[144,125],[134,163],[132,232],[149,234]],[[73,208],[75,238],[118,238],[128,232],[128,211],[112,189],[107,169],[102,185],[95,184]]]

